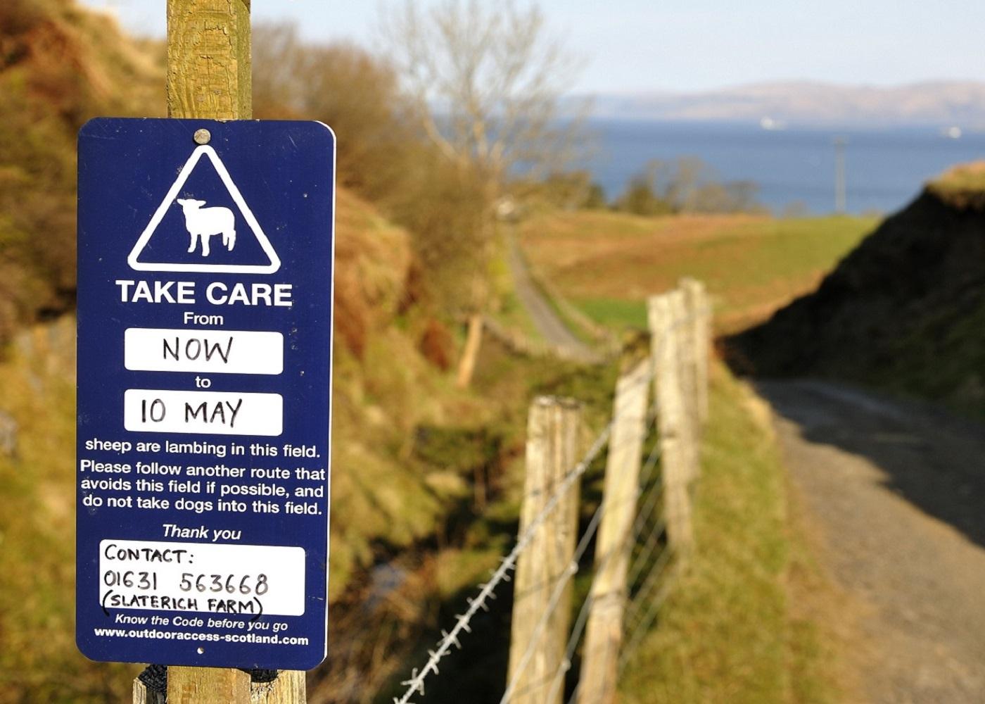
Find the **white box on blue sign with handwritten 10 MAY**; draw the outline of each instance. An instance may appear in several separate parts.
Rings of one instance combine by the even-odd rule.
[[[284,431],[284,397],[129,388],[123,394],[123,427],[143,433],[276,436]]]

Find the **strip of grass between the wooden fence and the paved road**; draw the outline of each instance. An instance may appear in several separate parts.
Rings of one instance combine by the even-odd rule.
[[[622,680],[625,704],[842,700],[827,589],[791,517],[768,411],[722,366],[694,497],[696,549]]]

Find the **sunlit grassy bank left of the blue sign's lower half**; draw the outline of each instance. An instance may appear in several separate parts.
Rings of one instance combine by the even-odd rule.
[[[18,442],[0,455],[0,702],[108,701],[124,666],[91,669],[75,648],[74,319],[6,357],[0,409]]]

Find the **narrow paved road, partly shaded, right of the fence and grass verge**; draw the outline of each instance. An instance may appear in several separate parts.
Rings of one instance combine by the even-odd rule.
[[[985,427],[828,383],[757,389],[860,605],[869,701],[985,702]]]

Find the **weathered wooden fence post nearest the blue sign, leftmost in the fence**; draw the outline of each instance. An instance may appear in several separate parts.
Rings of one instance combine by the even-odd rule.
[[[530,406],[527,419],[527,467],[520,509],[520,534],[526,530],[558,484],[577,464],[580,405],[570,399],[540,396]],[[509,674],[513,681],[519,672],[510,700],[512,704],[558,704],[548,701],[554,673],[564,658],[570,620],[570,584],[561,596],[547,627],[534,647],[533,656],[522,663],[536,625],[549,609],[552,593],[571,563],[578,531],[579,482],[575,481],[561,497],[516,564],[513,592],[513,620],[510,628]],[[520,671],[522,669],[522,671]]]

